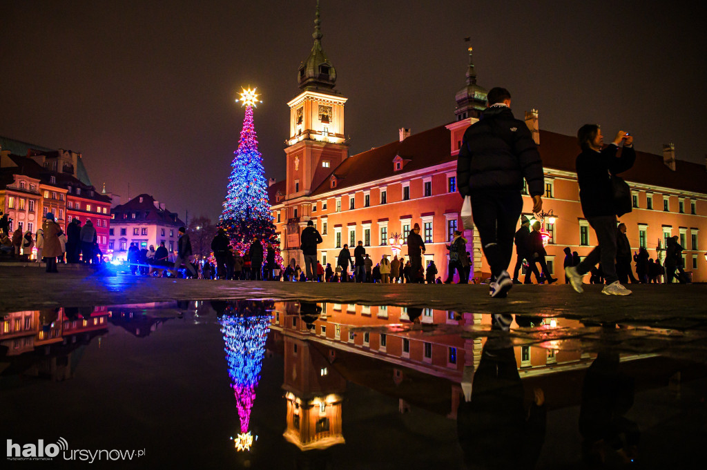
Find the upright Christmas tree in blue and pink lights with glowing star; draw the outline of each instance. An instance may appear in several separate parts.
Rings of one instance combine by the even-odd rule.
[[[228,180],[228,192],[223,201],[223,211],[219,227],[226,229],[231,245],[240,254],[244,254],[257,236],[266,252],[268,242],[275,248],[275,260],[282,265],[280,248],[277,245],[275,225],[267,199],[267,181],[262,165],[262,156],[258,151],[258,141],[253,125],[253,107],[259,101],[255,89],[243,89],[240,101],[245,106],[243,129],[240,131],[238,150],[230,164],[233,170]]]

